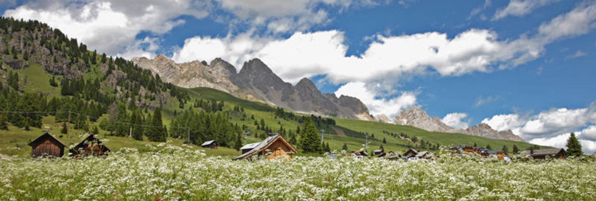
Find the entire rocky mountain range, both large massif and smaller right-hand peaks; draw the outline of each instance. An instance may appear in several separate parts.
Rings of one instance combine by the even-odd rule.
[[[385,115],[373,117],[369,114],[367,106],[359,99],[344,95],[337,98],[334,94],[321,93],[308,78],[302,78],[295,86],[292,86],[257,58],[244,62],[238,73],[233,65],[221,58],[216,58],[210,63],[206,61],[176,63],[167,56],[157,55],[154,59],[133,58],[132,62],[141,68],[151,70],[162,80],[176,86],[210,87],[237,98],[271,103],[296,112],[411,125],[443,133],[463,133],[490,139],[523,141],[511,130],[496,131],[484,123],[466,129],[452,128],[443,123],[440,118],[430,117],[417,107],[401,111],[401,114],[396,116],[393,121]]]

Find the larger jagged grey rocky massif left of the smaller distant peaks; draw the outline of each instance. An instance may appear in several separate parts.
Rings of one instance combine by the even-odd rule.
[[[164,55],[154,59],[133,58],[139,67],[151,70],[164,81],[180,87],[210,87],[238,98],[268,102],[297,112],[340,118],[373,120],[368,108],[360,100],[350,96],[337,98],[322,94],[308,78],[292,86],[278,77],[260,59],[244,62],[239,73],[228,62],[215,59],[206,62],[176,64]]]

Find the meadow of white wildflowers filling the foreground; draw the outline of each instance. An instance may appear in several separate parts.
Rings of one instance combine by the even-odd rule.
[[[0,200],[596,200],[596,164],[442,157],[231,161],[158,145],[0,160]]]

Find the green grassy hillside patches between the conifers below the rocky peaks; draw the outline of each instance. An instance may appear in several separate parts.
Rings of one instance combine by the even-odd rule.
[[[92,68],[94,70],[94,68]],[[50,75],[45,73],[44,70],[39,67],[39,65],[35,63],[31,63],[29,68],[23,70],[17,70],[19,74],[26,77],[27,83],[24,87],[24,90],[30,92],[49,92],[49,95],[59,95],[60,94],[60,87],[51,87],[48,84],[48,80]],[[93,73],[90,73],[88,76],[93,76]],[[254,125],[254,121],[260,121],[263,119],[269,127],[273,130],[277,130],[280,126],[283,126],[286,130],[296,130],[296,127],[301,126],[298,121],[294,120],[284,120],[283,118],[275,118],[274,107],[270,105],[266,105],[264,103],[252,102],[247,101],[244,99],[235,98],[228,93],[221,92],[219,90],[210,89],[210,88],[194,88],[194,89],[182,89],[187,90],[187,92],[191,96],[191,100],[196,99],[214,99],[218,101],[225,102],[224,111],[229,112],[229,117],[231,118],[231,122],[238,124],[238,125],[245,125],[247,130],[249,130],[252,135],[249,136],[248,142],[260,142],[258,137],[255,134],[263,133],[263,131],[257,130],[256,125]],[[231,112],[234,106],[240,106],[244,109],[244,114],[246,114],[246,118],[243,118],[241,114],[235,114]],[[188,109],[191,107],[191,104],[187,104],[184,109]],[[179,104],[177,101],[172,100],[171,103],[164,106],[164,125],[169,125],[169,122],[172,120],[174,113],[182,111],[184,109],[179,108]],[[302,114],[296,114],[302,115]],[[101,122],[102,118],[105,118],[106,115],[100,118],[97,122]],[[251,116],[254,117],[254,120],[250,118]],[[415,147],[416,145],[412,143],[410,140],[401,139],[399,137],[390,136],[387,132],[390,133],[403,133],[407,134],[409,137],[417,137],[418,140],[424,140],[426,142],[437,143],[442,146],[452,146],[452,145],[473,145],[476,143],[479,146],[486,146],[491,145],[493,149],[501,149],[503,145],[507,145],[508,148],[511,150],[513,145],[520,147],[520,149],[527,149],[530,145],[529,143],[524,142],[514,142],[509,140],[493,140],[493,139],[486,139],[483,137],[476,137],[476,136],[468,136],[465,134],[454,134],[454,133],[437,133],[437,132],[429,132],[426,130],[421,130],[420,128],[410,127],[410,126],[403,126],[403,125],[393,125],[393,124],[385,124],[385,123],[377,123],[373,121],[360,121],[360,120],[350,120],[350,119],[338,119],[336,118],[336,125],[331,127],[319,127],[318,129],[324,129],[324,141],[325,143],[329,143],[332,150],[340,150],[344,143],[348,147],[348,151],[358,150],[364,147],[365,137],[363,133],[368,133],[370,138],[368,139],[369,145],[368,150],[378,149],[381,145],[383,145],[385,150],[395,150],[395,151],[404,151],[407,150],[408,147]],[[91,127],[94,125],[98,125],[98,123],[92,123]],[[53,117],[45,117],[44,118],[44,126],[45,129],[53,129],[52,133],[56,136],[60,136],[59,130],[61,125],[55,123]],[[42,128],[44,129],[44,128]],[[83,133],[82,131],[72,130],[73,132]],[[339,131],[339,132],[337,132]],[[26,131],[23,128],[16,128],[10,127],[8,131],[0,131],[0,135],[2,139],[0,139],[0,153],[4,153],[7,155],[28,155],[30,148],[26,146],[30,140],[35,139],[39,134],[41,134],[41,129],[39,128],[32,128],[30,131]],[[108,139],[106,144],[111,149],[117,150],[121,147],[135,147],[139,150],[145,150],[145,144],[151,143],[145,141],[138,141],[128,139],[126,137],[114,137],[114,136],[107,136],[105,131],[100,131],[100,136]],[[374,136],[374,138],[372,137]],[[73,138],[62,138],[64,143],[68,145],[72,145],[79,141],[80,137],[77,136]],[[386,139],[386,143],[383,143],[383,138]],[[182,139],[170,139],[173,140],[175,143],[182,143],[184,140]],[[14,147],[20,147],[20,149],[16,149]],[[423,149],[422,147],[417,147],[417,149]],[[431,148],[429,148],[430,150]],[[233,150],[231,148],[221,147],[218,150],[209,150],[207,153],[213,155],[224,155],[224,156],[234,156],[239,154],[240,152]]]

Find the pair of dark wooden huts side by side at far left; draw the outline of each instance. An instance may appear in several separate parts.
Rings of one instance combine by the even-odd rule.
[[[31,146],[31,156],[38,157],[54,157],[60,158],[64,156],[64,150],[68,149],[64,143],[60,142],[52,134],[44,133],[35,140],[29,143]],[[95,138],[94,134],[89,134],[85,139],[81,140],[73,149],[68,149],[72,157],[78,158],[80,156],[105,156],[110,149],[106,147],[101,141]]]

